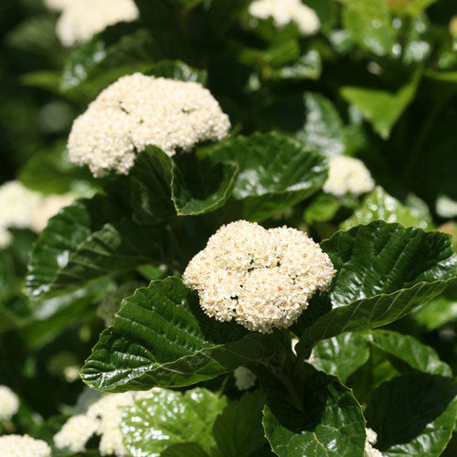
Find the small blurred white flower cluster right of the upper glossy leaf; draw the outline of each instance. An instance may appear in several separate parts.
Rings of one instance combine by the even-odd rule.
[[[374,188],[375,182],[361,160],[347,155],[336,155],[330,159],[328,178],[323,187],[327,194],[335,197],[345,194],[359,196]]]

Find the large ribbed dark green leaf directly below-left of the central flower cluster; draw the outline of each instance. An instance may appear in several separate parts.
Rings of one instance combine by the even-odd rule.
[[[114,325],[101,334],[81,376],[91,388],[118,392],[182,387],[273,352],[269,335],[237,327],[203,314],[197,294],[181,280],[154,281],[123,300]],[[211,342],[221,335],[227,335],[225,341],[230,335],[232,342]]]

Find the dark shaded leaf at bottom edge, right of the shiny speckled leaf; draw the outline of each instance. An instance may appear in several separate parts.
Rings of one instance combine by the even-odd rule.
[[[228,404],[213,426],[218,455],[248,457],[266,443],[261,426],[263,405],[260,390],[247,392]]]

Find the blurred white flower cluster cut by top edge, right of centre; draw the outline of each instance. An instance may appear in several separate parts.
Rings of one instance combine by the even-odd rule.
[[[294,22],[303,35],[312,35],[320,27],[319,17],[301,0],[256,0],[249,7],[251,16],[273,19],[276,27]]]

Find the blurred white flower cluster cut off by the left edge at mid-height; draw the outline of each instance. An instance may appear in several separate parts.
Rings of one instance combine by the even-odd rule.
[[[74,200],[73,196],[48,196],[34,192],[18,181],[0,186],[0,248],[11,242],[8,228],[31,228],[40,231],[48,219]]]

